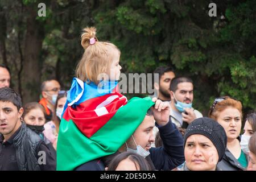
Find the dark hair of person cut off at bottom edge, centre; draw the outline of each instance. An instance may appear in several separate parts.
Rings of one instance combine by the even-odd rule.
[[[137,171],[151,171],[151,167],[147,160],[144,159],[143,156],[135,154],[134,152],[122,152],[115,156],[108,166],[108,171],[115,171],[118,164],[124,159],[130,159],[135,164]],[[139,168],[137,168],[137,166]]]

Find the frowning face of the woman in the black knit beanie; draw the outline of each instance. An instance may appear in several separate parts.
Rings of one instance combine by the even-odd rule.
[[[218,152],[212,141],[204,135],[195,134],[185,143],[186,166],[191,171],[213,171],[218,163]]]

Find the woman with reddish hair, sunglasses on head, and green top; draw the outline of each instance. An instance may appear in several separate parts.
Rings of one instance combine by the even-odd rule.
[[[216,120],[226,132],[228,143],[224,158],[217,167],[224,171],[245,170],[247,159],[240,146],[242,104],[233,97],[218,97],[210,107],[209,118]]]

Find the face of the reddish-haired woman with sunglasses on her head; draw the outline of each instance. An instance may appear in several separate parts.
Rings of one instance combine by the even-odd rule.
[[[242,121],[241,113],[234,107],[227,107],[218,114],[217,122],[224,127],[228,141],[240,135]]]

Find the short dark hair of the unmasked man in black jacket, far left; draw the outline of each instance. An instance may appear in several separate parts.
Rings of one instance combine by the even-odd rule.
[[[3,87],[0,89],[0,101],[12,102],[19,110],[22,107],[22,101],[18,93],[14,89]]]

